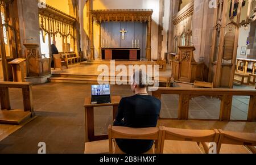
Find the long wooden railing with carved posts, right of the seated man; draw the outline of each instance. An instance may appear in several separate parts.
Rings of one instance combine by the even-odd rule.
[[[230,121],[233,96],[250,96],[247,121],[256,121],[256,90],[207,88],[158,88],[152,95],[161,99],[163,94],[179,95],[178,119],[188,120],[189,100],[199,96],[212,96],[221,100],[220,121]]]

